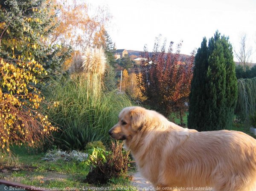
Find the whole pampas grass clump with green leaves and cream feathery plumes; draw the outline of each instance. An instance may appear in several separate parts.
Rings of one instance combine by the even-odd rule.
[[[46,111],[49,120],[60,128],[53,136],[54,144],[62,149],[82,150],[89,142],[108,141],[108,130],[121,108],[132,105],[126,95],[102,91],[105,60],[102,49],[76,54],[70,78],[52,79],[42,90],[48,102],[58,102],[57,107]]]

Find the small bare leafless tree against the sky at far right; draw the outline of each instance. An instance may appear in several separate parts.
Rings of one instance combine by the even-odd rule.
[[[243,66],[244,70],[250,62],[250,57],[253,54],[253,49],[251,46],[247,47],[247,37],[246,34],[241,35],[240,47],[238,51],[235,52],[236,58],[239,60],[239,64]]]

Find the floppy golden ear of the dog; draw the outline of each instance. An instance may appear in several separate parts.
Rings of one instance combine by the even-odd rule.
[[[145,114],[146,110],[144,108],[136,107],[131,108],[131,128],[134,131],[141,131],[144,126],[148,123],[148,117]]]

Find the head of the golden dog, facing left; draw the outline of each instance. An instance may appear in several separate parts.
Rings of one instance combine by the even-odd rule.
[[[108,133],[116,140],[132,139],[148,123],[146,111],[141,107],[124,108],[119,114],[118,123]]]

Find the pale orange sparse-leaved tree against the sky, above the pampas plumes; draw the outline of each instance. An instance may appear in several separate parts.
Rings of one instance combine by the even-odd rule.
[[[90,11],[93,8],[84,1],[54,2],[60,5],[56,8],[59,25],[52,34],[51,43],[60,41],[76,50],[85,51],[87,47],[97,46],[97,40],[104,40],[105,25],[111,19],[107,8],[98,7]]]

